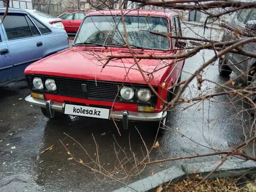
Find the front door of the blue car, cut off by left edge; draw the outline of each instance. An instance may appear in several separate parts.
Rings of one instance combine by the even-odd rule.
[[[10,80],[12,80],[12,62],[2,26],[0,26],[0,85]]]

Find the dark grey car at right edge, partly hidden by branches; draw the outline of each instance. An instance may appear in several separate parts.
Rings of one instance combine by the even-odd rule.
[[[243,9],[240,12],[235,13],[232,21],[229,23],[231,27],[239,31],[245,31],[250,34],[255,31],[256,26],[256,8]],[[246,38],[243,34],[234,33],[234,31],[226,29],[222,38],[222,41],[239,40]],[[250,42],[248,44],[239,47],[243,51],[256,53],[256,43]],[[229,52],[225,56],[219,59],[219,74],[221,76],[229,76],[232,72],[240,76],[248,86],[256,86],[256,59],[248,56]],[[250,96],[250,98],[256,102],[256,95]],[[255,114],[254,105],[251,112]]]

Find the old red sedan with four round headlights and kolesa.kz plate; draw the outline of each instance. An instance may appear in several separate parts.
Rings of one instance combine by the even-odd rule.
[[[180,52],[173,49],[186,46],[183,41],[152,33],[182,36],[175,12],[126,10],[125,23],[129,44],[137,55],[175,56]],[[157,128],[163,127],[168,113],[162,111],[163,102],[147,86],[129,57],[123,35],[120,10],[89,13],[71,48],[26,68],[31,90],[26,101],[40,106],[49,119],[65,114],[120,119],[125,129],[129,121],[157,122]],[[107,60],[101,59],[112,55],[128,58],[110,60],[103,67]],[[184,59],[140,59],[138,63],[155,91],[170,101],[173,90],[167,88],[180,80]]]

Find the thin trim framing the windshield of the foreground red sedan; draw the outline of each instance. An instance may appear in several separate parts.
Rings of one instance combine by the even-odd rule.
[[[119,14],[115,14],[115,15],[90,15],[90,13],[89,14],[87,14],[86,16],[84,16],[84,19],[83,19],[83,21],[81,22],[81,24],[80,24],[80,27],[79,27],[79,30],[77,31],[77,33],[76,33],[76,35],[74,36],[74,40],[73,40],[73,43],[72,43],[72,47],[74,46],[74,47],[76,47],[76,44],[74,44],[74,42],[76,41],[76,38],[77,38],[77,35],[80,33],[80,30],[81,30],[81,26],[84,24],[84,20],[86,20],[86,18],[87,17],[94,17],[94,16],[101,16],[101,17],[107,17],[107,16],[112,16],[112,17],[116,17],[116,16],[121,16],[121,15],[119,15]],[[127,13],[127,14],[125,14],[124,16],[143,16],[143,17],[147,17],[147,15],[144,15],[144,14],[141,14],[141,15],[136,15],[136,14],[129,14],[129,13]],[[170,29],[170,19],[169,19],[169,17],[168,16],[158,16],[158,15],[152,15],[151,17],[159,17],[159,18],[164,18],[164,19],[166,19],[168,22],[168,30],[169,30],[169,33],[170,33],[170,31],[172,30],[172,29]],[[150,32],[148,32],[148,33],[150,33]],[[80,45],[80,46],[82,46],[82,45]],[[90,46],[90,45],[89,45]],[[114,47],[113,45],[103,45],[103,47],[105,47],[105,46],[107,46],[107,47]],[[86,47],[86,45],[84,45],[84,47]],[[91,46],[90,46],[91,47]],[[126,47],[123,47],[123,48],[126,48]],[[134,48],[134,49],[137,49],[137,48]],[[168,48],[168,49],[150,49],[150,48],[143,48],[143,49],[146,49],[146,50],[156,50],[156,51],[165,51],[165,52],[167,52],[167,51],[171,51],[172,50],[172,42],[171,42],[171,40],[170,40],[170,47]]]

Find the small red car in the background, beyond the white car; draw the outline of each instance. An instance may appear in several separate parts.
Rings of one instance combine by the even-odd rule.
[[[62,19],[62,24],[67,33],[76,33],[87,13],[84,11],[65,12],[58,17]]]

